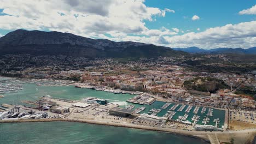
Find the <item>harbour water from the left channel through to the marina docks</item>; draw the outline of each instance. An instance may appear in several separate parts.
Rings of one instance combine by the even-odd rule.
[[[156,101],[155,98],[147,95],[147,94],[136,94],[133,95],[131,93],[118,93],[114,94],[113,92],[104,92],[104,91],[97,91],[96,89],[88,89],[88,88],[75,88],[74,86],[44,86],[42,83],[38,85],[41,80],[5,80],[4,82],[8,83],[18,83],[17,85],[22,85],[23,89],[16,94],[5,94],[4,98],[1,98],[1,103],[7,104],[18,104],[22,103],[23,100],[38,100],[39,97],[43,95],[48,95],[53,98],[60,98],[60,99],[69,99],[69,100],[82,100],[83,98],[87,97],[94,97],[98,99],[106,99],[108,103],[118,104],[121,107],[127,109],[131,109],[135,111],[135,113],[148,113],[149,115],[153,115],[156,117],[168,117],[168,119],[175,121],[178,119],[179,116],[184,116],[185,113],[188,114],[186,121],[190,121],[193,117],[194,112],[198,112],[197,115],[201,116],[201,118],[207,116],[206,114],[210,115],[212,113],[213,119],[220,119],[220,128],[224,125],[224,115],[225,112],[221,110],[210,110],[208,112],[208,108],[206,107],[199,107],[199,106],[191,106],[185,104],[177,104],[177,103],[170,103],[170,102],[162,102]],[[2,81],[3,82],[3,81]],[[75,95],[71,97],[71,95]],[[18,102],[18,100],[20,102]],[[126,102],[127,100],[127,102]],[[134,100],[134,101],[130,101]],[[83,100],[82,100],[83,101]],[[130,102],[131,103],[130,103]],[[133,103],[132,103],[133,102]],[[30,104],[25,104],[26,106],[30,106]],[[45,107],[47,108],[47,107]],[[155,111],[151,111],[155,109]],[[1,110],[1,109],[0,109]],[[168,113],[168,111],[175,112],[174,115],[170,115],[173,113]],[[207,111],[207,113],[205,112]],[[201,113],[202,112],[202,113]],[[200,115],[201,113],[201,115]],[[196,124],[203,124],[202,119],[197,119]],[[213,121],[209,124],[215,125]]]

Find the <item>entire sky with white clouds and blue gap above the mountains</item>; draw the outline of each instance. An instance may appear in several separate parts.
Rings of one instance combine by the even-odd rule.
[[[256,46],[255,0],[0,0],[0,37],[16,29],[168,47]]]

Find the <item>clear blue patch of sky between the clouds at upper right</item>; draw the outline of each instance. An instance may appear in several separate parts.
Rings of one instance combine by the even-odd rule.
[[[175,14],[167,14],[165,17],[158,17],[157,21],[146,21],[146,25],[151,29],[164,26],[166,28],[177,27],[179,29],[196,32],[197,28],[203,31],[206,28],[224,26],[228,23],[235,24],[256,20],[256,15],[238,14],[238,11],[251,8],[256,4],[256,1],[158,0],[146,1],[145,4],[148,7],[158,7],[161,9],[170,8],[176,11]],[[193,15],[200,16],[200,20],[191,20]]]

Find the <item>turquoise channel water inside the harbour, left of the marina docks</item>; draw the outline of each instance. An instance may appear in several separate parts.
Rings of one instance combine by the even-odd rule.
[[[97,97],[107,99],[111,103],[126,104],[126,100],[134,95],[114,94],[104,91],[95,91],[88,88],[75,88],[74,86],[37,86],[34,83],[25,83],[24,89],[18,93],[4,94],[0,104],[17,104],[22,100],[37,100],[46,94],[54,98],[80,100],[85,97]]]

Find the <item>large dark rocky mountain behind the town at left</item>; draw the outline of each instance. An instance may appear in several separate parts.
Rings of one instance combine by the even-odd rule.
[[[0,55],[25,53],[76,57],[158,57],[187,54],[153,44],[90,39],[61,32],[18,29],[0,38]]]

